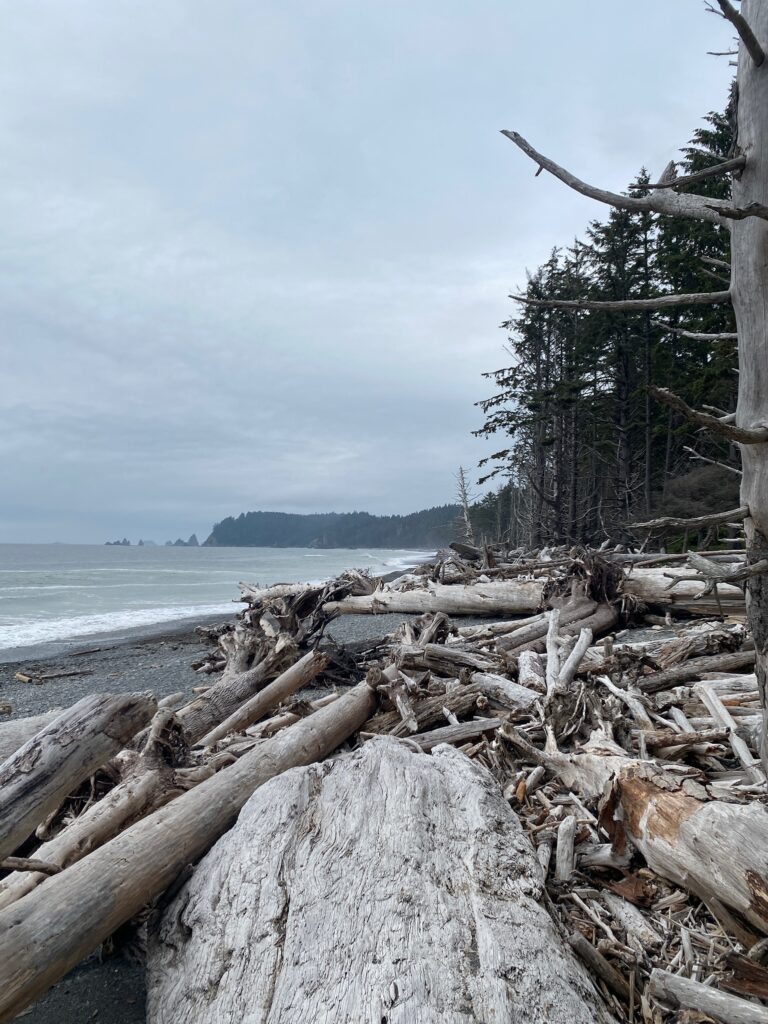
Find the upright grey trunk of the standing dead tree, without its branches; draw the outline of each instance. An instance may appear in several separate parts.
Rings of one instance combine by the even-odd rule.
[[[759,42],[768,46],[768,6],[744,0],[741,13]],[[746,164],[733,179],[733,203],[768,204],[768,60],[760,66],[743,43],[738,54],[737,142]],[[760,428],[768,424],[768,223],[760,217],[734,220],[731,228],[731,298],[738,331],[738,403],[736,424]],[[741,504],[746,558],[757,562],[768,550],[768,444],[741,446]],[[756,672],[764,715],[768,707],[768,577],[753,577],[746,586],[752,635],[758,652]],[[763,761],[768,766],[768,732],[763,736]]]

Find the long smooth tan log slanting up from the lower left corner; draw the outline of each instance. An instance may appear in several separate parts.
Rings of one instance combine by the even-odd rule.
[[[11,1020],[167,889],[231,827],[260,785],[334,751],[375,700],[360,683],[0,911],[0,1021]]]

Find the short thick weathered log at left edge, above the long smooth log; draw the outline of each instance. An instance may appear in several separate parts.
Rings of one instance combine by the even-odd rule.
[[[152,693],[83,697],[0,765],[0,860],[152,718]]]

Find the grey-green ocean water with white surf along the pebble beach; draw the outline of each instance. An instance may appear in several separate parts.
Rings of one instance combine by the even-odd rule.
[[[0,650],[234,613],[238,582],[408,568],[432,552],[0,544]]]

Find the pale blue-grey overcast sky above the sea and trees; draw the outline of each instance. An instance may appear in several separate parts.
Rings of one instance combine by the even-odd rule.
[[[721,109],[700,0],[0,0],[0,540],[452,501],[507,295]],[[474,476],[476,477],[476,473]]]

